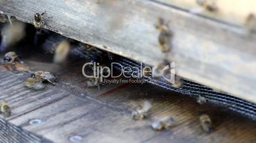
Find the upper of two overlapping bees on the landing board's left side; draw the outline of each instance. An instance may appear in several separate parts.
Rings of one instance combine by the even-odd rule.
[[[53,85],[56,85],[57,80],[57,77],[53,73],[50,73],[48,71],[36,71],[34,73],[31,73],[31,78],[42,80],[43,82],[47,81]]]

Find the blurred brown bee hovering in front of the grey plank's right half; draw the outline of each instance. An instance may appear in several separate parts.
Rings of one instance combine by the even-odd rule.
[[[169,44],[171,42],[171,38],[173,37],[173,33],[169,29],[168,24],[164,22],[163,18],[159,18],[159,24],[155,27],[160,31],[158,37],[160,49],[162,52],[166,53],[169,51]]]

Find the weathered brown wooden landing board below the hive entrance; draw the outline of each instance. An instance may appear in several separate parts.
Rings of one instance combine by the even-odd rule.
[[[35,56],[34,59],[38,59]],[[57,73],[59,85],[47,85],[45,90],[29,90],[23,81],[29,74],[1,68],[0,101],[10,103],[13,115],[7,121],[57,143],[70,142],[255,142],[255,121],[236,115],[226,108],[200,105],[195,99],[180,96],[148,84],[85,86],[82,63],[52,68],[51,63],[24,59],[34,70]],[[44,66],[42,65],[49,65]],[[3,66],[1,66],[3,67]],[[146,120],[132,120],[131,108],[140,99],[153,103]],[[206,134],[198,116],[208,113],[213,120],[213,132]],[[172,116],[176,126],[171,130],[154,131],[153,121]],[[29,121],[41,120],[31,125]]]

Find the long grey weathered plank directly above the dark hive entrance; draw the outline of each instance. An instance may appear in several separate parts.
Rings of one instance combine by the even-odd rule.
[[[155,1],[0,1],[4,13],[32,23],[46,11],[46,27],[72,39],[149,65],[174,61],[181,77],[256,103],[255,34]],[[111,9],[111,10],[110,10]],[[159,49],[159,17],[170,21],[172,49]]]

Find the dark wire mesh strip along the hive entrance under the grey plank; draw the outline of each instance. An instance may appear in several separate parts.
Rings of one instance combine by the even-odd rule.
[[[73,52],[75,54],[80,55],[80,57],[86,58],[86,59],[96,59],[96,55],[99,55],[99,54],[101,54],[101,57],[103,56],[108,57],[108,54],[106,52],[101,51],[99,49],[84,51],[78,48],[78,49],[74,49]],[[101,61],[102,60],[103,58],[101,58]],[[139,69],[139,67],[141,66],[140,62],[134,61],[132,59],[124,58],[121,56],[115,56],[115,59],[112,59],[112,62],[119,63],[118,65],[113,65],[113,67],[117,70],[123,70],[124,67],[127,67],[127,66],[131,68],[137,67]],[[121,67],[120,65],[122,65],[123,67]],[[142,66],[146,66],[146,65],[142,65]],[[211,103],[226,106],[227,108],[233,111],[236,111],[238,113],[241,113],[242,115],[252,118],[253,120],[256,120],[256,104],[250,103],[243,99],[239,99],[238,97],[234,97],[230,94],[213,90],[210,87],[197,84],[196,82],[192,82],[185,78],[181,78],[181,80],[183,80],[183,85],[181,87],[174,87],[173,84],[165,80],[152,78],[150,76],[143,77],[141,76],[141,71],[130,71],[130,72],[126,71],[126,73],[127,72],[130,75],[133,75],[133,77],[142,77],[140,79],[145,80],[150,84],[157,85],[167,90],[178,92],[184,96],[204,97],[207,101],[210,101]]]

